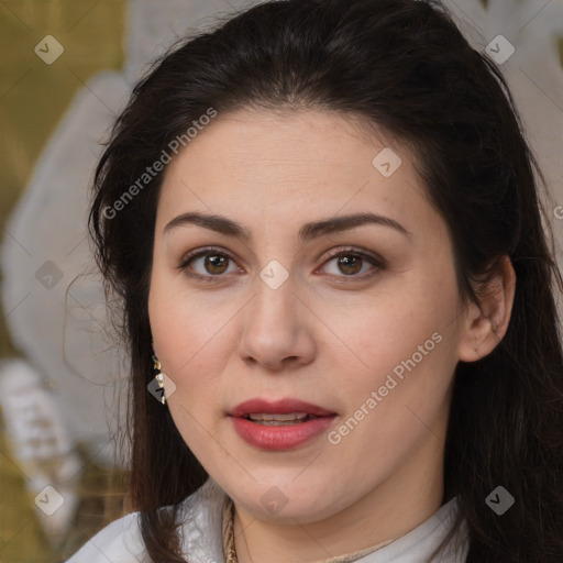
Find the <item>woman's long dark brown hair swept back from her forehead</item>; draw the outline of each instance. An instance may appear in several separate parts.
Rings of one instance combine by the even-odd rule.
[[[459,496],[468,563],[563,561],[563,358],[554,305],[562,280],[542,229],[542,177],[500,71],[432,0],[255,5],[175,45],[117,120],[96,173],[90,231],[108,295],[122,305],[132,362],[131,495],[148,554],[184,561],[175,509],[207,478],[146,388],[164,170],[114,217],[108,209],[209,108],[219,115],[245,108],[360,115],[413,147],[429,199],[449,225],[465,300],[476,300],[478,284],[510,257],[517,287],[508,332],[488,356],[456,368],[444,501]],[[501,517],[485,503],[498,485],[516,499]],[[172,510],[157,510],[165,505]]]

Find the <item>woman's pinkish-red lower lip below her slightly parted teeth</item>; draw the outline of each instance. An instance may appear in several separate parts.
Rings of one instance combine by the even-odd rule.
[[[332,424],[335,415],[276,427],[256,424],[241,417],[230,418],[234,430],[246,443],[261,450],[290,450],[325,431]]]

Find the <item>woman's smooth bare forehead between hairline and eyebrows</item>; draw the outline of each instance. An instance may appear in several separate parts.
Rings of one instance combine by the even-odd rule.
[[[170,218],[195,207],[264,222],[373,208],[409,220],[426,198],[411,153],[367,131],[360,118],[330,111],[219,114],[168,164],[158,211]]]

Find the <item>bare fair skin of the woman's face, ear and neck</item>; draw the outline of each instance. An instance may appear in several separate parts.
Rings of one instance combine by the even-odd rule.
[[[372,164],[386,146],[402,161],[390,177]],[[402,536],[443,503],[454,368],[504,336],[515,279],[505,261],[482,302],[463,305],[446,224],[413,163],[405,146],[367,137],[351,117],[241,110],[216,118],[167,167],[148,302],[153,349],[176,385],[168,408],[180,434],[234,501],[241,563],[354,552]],[[235,220],[252,239],[196,224],[163,233],[188,211]],[[409,234],[364,224],[297,238],[309,221],[366,211]],[[208,245],[229,258],[206,268],[199,256],[178,269]],[[351,252],[367,256],[339,267]],[[273,260],[288,273],[277,289],[260,277]],[[323,433],[295,450],[262,451],[227,416],[252,397],[297,397],[335,411],[329,430],[338,429],[434,333],[441,342],[338,444]],[[287,501],[275,514],[261,501],[272,487]]]

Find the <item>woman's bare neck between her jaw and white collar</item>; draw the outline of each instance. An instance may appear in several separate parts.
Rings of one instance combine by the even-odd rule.
[[[423,467],[423,470],[421,470]],[[235,505],[239,563],[323,562],[393,541],[430,518],[443,499],[443,443],[429,434],[385,482],[322,521],[276,525]]]

